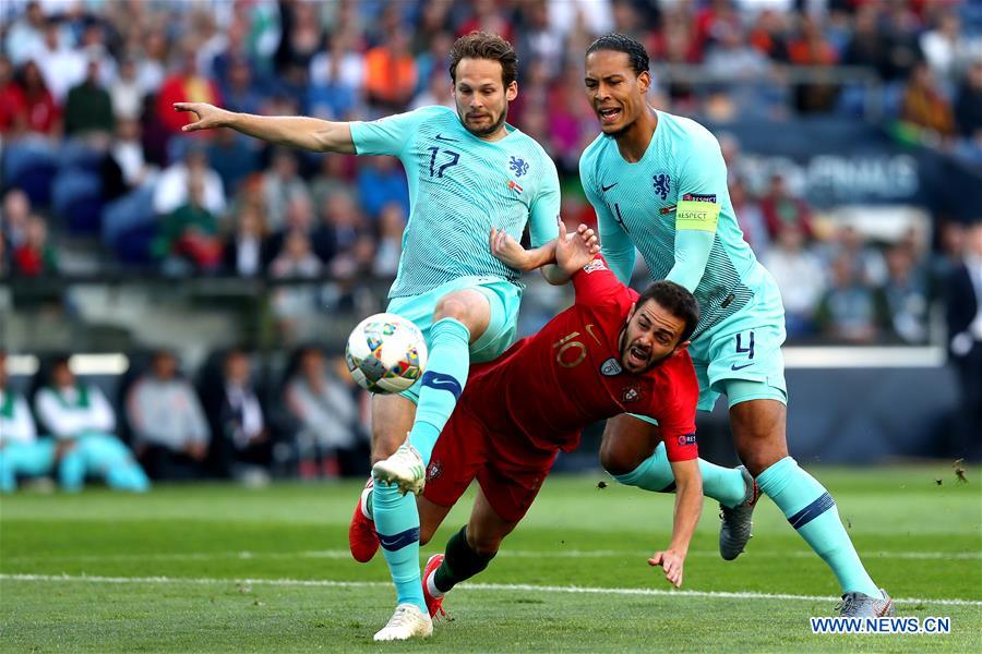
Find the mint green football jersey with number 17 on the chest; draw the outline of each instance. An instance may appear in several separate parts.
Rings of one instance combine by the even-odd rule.
[[[491,228],[532,246],[556,234],[559,175],[542,147],[519,130],[487,142],[446,107],[423,107],[352,122],[359,155],[398,157],[409,180],[409,222],[390,298],[419,295],[460,277],[504,279],[520,272],[491,255]]]

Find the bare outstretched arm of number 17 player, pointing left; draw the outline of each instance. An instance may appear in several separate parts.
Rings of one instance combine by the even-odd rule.
[[[207,102],[175,102],[173,110],[195,114],[197,120],[184,125],[182,128],[184,132],[230,128],[278,145],[316,153],[355,154],[351,128],[346,122],[331,122],[304,116],[236,113]]]

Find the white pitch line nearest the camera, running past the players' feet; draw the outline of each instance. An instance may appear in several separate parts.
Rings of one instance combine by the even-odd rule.
[[[87,583],[169,583],[169,584],[242,584],[242,585],[274,585],[274,586],[314,586],[314,588],[342,588],[367,589],[391,588],[392,584],[384,581],[334,581],[330,579],[213,579],[213,578],[180,578],[180,577],[89,577],[70,574],[0,574],[0,581],[39,581],[62,582],[81,581]],[[532,585],[524,583],[464,583],[459,591],[504,591],[527,593],[571,593],[589,595],[645,595],[645,596],[671,596],[671,597],[704,597],[716,600],[791,600],[795,602],[834,602],[839,597],[823,595],[790,595],[783,593],[755,593],[727,591],[664,591],[658,589],[603,589],[590,586],[554,586]],[[982,606],[979,600],[955,598],[919,598],[894,597],[895,603],[901,604],[931,604],[941,606]]]

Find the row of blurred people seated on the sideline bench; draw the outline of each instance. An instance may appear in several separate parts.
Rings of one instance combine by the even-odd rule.
[[[0,492],[36,479],[65,491],[88,479],[142,492],[152,481],[367,474],[368,393],[343,358],[304,346],[278,375],[260,374],[259,362],[218,352],[192,383],[172,352],[158,350],[105,385],[76,377],[59,355],[15,388],[0,351]]]

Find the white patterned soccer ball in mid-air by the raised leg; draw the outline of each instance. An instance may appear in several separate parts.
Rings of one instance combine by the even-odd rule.
[[[380,393],[402,392],[427,366],[427,341],[419,327],[395,314],[375,314],[351,330],[345,361],[359,386]]]

